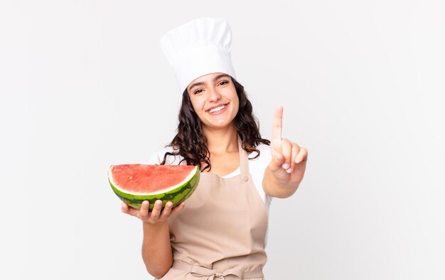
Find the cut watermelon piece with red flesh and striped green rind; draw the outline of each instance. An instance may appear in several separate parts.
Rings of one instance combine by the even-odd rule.
[[[142,201],[160,199],[162,208],[167,201],[173,207],[185,201],[200,177],[198,167],[190,165],[121,164],[108,169],[108,181],[117,196],[129,206],[140,209]]]

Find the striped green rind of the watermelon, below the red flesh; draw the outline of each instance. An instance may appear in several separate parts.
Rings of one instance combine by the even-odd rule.
[[[141,204],[143,201],[149,201],[150,202],[150,210],[153,210],[154,202],[156,200],[162,201],[162,208],[166,206],[166,203],[168,201],[171,201],[173,203],[173,207],[178,206],[183,201],[186,201],[187,198],[193,194],[193,191],[195,191],[196,187],[198,186],[200,178],[200,172],[198,167],[195,168],[195,174],[193,174],[193,177],[186,181],[184,184],[181,184],[177,186],[175,189],[172,189],[170,191],[167,191],[166,193],[161,194],[144,194],[144,195],[137,195],[137,194],[128,194],[124,191],[121,191],[117,189],[116,186],[112,184],[112,181],[108,178],[109,185],[112,187],[114,194],[117,195],[124,203],[127,203],[129,206],[140,209]],[[182,195],[181,195],[182,194]]]

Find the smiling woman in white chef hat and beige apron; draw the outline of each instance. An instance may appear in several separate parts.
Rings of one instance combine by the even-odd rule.
[[[282,107],[272,142],[262,139],[244,88],[230,60],[230,28],[203,18],[167,33],[161,45],[183,102],[178,134],[151,159],[192,164],[200,183],[176,208],[156,201],[122,211],[143,221],[142,257],[157,279],[264,279],[270,198],[294,194],[307,151],[282,139]],[[185,208],[185,205],[187,207]]]

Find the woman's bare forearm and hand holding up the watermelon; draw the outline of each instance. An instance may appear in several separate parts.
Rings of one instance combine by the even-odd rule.
[[[168,217],[181,211],[185,204],[171,208],[172,203],[166,203],[161,211],[161,201],[156,201],[149,212],[149,201],[142,203],[141,209],[135,209],[122,203],[122,212],[133,215],[142,220],[144,237],[142,241],[142,259],[149,274],[161,278],[173,264],[173,254],[170,245]]]

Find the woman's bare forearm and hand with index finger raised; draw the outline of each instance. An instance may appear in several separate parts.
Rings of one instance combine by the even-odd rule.
[[[263,189],[269,196],[287,198],[295,193],[306,171],[308,152],[294,142],[282,139],[283,108],[275,111],[272,128],[272,160],[264,171]]]

